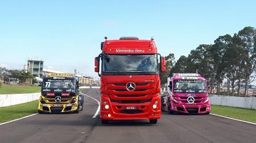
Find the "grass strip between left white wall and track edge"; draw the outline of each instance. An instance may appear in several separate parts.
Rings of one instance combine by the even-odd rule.
[[[38,112],[38,100],[22,103],[19,105],[1,107],[0,108],[0,123],[10,120],[22,118]]]

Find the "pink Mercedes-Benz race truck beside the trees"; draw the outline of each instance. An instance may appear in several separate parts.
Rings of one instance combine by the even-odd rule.
[[[209,114],[207,80],[197,73],[174,73],[168,77],[161,101],[162,111]]]

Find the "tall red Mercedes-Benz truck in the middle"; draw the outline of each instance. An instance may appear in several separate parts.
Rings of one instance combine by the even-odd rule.
[[[159,72],[166,59],[158,54],[154,38],[121,37],[101,42],[94,71],[101,77],[102,124],[109,120],[161,118]]]

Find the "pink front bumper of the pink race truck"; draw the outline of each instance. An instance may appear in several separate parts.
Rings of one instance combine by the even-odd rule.
[[[204,105],[181,105],[172,103],[171,110],[187,114],[204,114],[210,112],[210,103]]]

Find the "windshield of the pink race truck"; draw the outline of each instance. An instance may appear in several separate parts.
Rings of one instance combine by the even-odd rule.
[[[205,80],[174,80],[175,93],[205,93]]]

